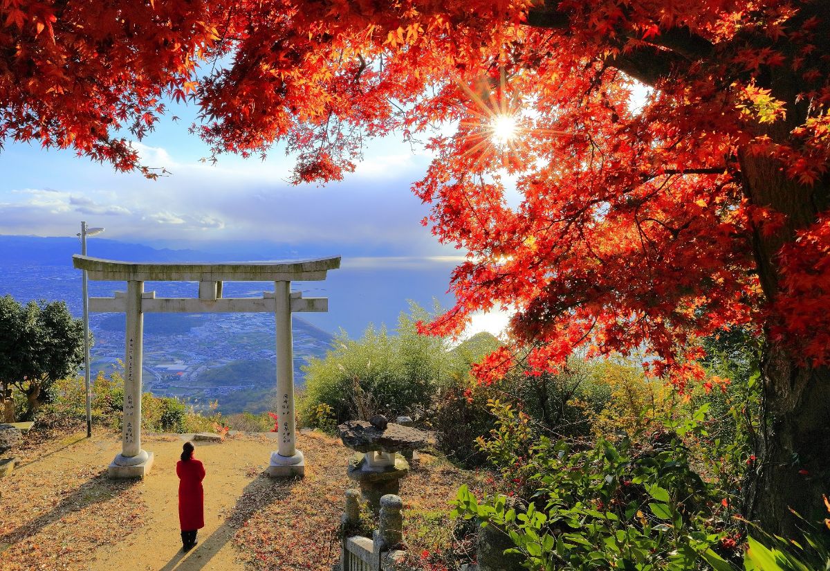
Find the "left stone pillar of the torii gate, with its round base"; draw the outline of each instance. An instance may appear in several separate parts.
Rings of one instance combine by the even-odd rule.
[[[110,464],[113,478],[144,476],[153,465],[153,454],[141,449],[141,368],[144,314],[141,311],[143,281],[127,282],[127,329],[124,359],[124,418],[121,453]]]

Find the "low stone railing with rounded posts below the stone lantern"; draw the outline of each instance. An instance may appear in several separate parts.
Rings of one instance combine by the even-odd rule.
[[[378,529],[372,539],[349,536],[360,520],[360,492],[346,490],[346,509],[341,520],[340,571],[400,571],[404,552],[396,549],[403,539],[403,501],[393,494],[380,498]]]

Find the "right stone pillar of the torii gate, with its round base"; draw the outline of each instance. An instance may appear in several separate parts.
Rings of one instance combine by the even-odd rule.
[[[305,458],[296,449],[294,359],[291,340],[291,281],[274,282],[276,320],[276,394],[279,402],[279,447],[271,453],[269,476],[305,476]]]

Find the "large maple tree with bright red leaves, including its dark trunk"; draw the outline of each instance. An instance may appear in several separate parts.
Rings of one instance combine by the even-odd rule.
[[[296,182],[342,177],[366,136],[426,139],[425,223],[469,252],[434,333],[510,306],[532,367],[645,345],[681,388],[702,375],[696,339],[764,334],[747,515],[791,532],[789,506],[822,513],[827,2],[2,0],[0,24],[0,140],[152,175],[113,134],[143,134],[165,95],[201,105],[216,154],[298,151]],[[515,134],[494,142],[505,116]]]

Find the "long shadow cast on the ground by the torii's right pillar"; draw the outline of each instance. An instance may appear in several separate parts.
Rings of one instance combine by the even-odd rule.
[[[265,474],[260,474],[254,481],[245,486],[242,495],[237,500],[225,521],[207,539],[200,538],[195,548],[187,554],[181,549],[173,555],[159,571],[199,571],[211,562],[211,559],[227,544],[242,525],[251,519],[256,512],[265,509],[276,500],[283,500],[291,494],[291,490],[300,481],[274,480]]]

